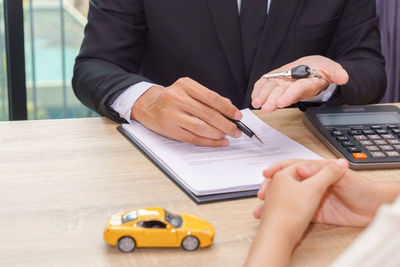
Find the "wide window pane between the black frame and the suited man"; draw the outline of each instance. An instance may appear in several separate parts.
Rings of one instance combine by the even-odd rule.
[[[24,0],[28,119],[97,116],[71,87],[88,1]]]

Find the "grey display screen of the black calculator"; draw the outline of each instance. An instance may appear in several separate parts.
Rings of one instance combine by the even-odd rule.
[[[397,112],[317,114],[322,125],[398,124]]]

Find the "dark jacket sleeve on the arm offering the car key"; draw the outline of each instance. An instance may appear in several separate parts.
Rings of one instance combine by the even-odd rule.
[[[339,87],[333,99],[335,104],[376,103],[383,97],[386,73],[375,1],[346,1],[328,57],[349,73],[349,82]]]

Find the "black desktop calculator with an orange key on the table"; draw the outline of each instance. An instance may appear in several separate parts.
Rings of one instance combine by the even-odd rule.
[[[400,109],[396,106],[311,107],[305,126],[352,169],[400,167]]]

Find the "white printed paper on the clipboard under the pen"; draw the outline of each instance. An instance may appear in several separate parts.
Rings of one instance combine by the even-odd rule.
[[[262,171],[285,159],[321,159],[304,146],[276,131],[249,109],[242,122],[264,142],[246,135],[230,138],[229,146],[199,147],[162,137],[137,122],[123,128],[195,195],[258,189]]]

